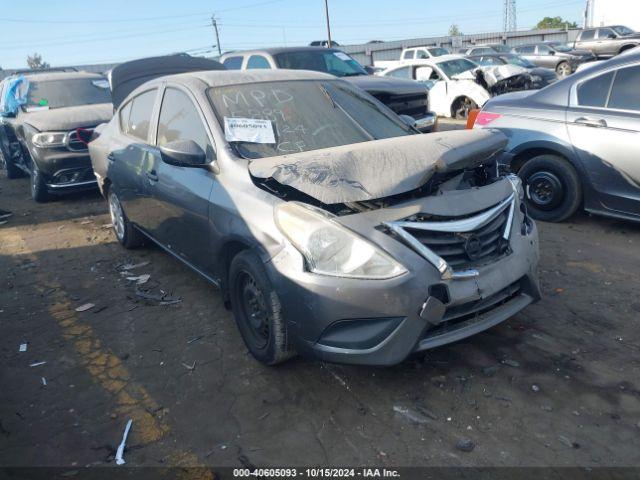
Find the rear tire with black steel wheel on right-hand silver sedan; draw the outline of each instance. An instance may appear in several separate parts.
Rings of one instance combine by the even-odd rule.
[[[562,222],[582,203],[582,185],[577,172],[564,158],[540,155],[518,171],[525,188],[529,213],[536,220]]]

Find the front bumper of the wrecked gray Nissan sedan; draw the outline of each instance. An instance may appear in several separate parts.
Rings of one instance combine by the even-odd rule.
[[[305,272],[288,246],[267,263],[290,338],[324,361],[392,365],[413,352],[474,335],[540,298],[535,224],[524,233],[518,208],[511,252],[477,267],[477,276],[444,278],[435,266],[386,233],[369,235],[409,272],[388,280],[334,278]],[[386,237],[386,238],[385,238]]]

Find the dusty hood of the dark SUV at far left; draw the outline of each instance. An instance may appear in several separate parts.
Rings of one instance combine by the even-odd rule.
[[[41,132],[73,130],[80,127],[94,127],[111,120],[113,105],[98,103],[76,107],[54,108],[37,112],[22,112],[24,123]]]

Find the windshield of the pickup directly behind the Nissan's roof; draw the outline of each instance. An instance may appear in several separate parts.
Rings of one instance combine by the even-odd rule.
[[[293,70],[315,70],[330,73],[336,77],[367,75],[366,70],[353,58],[343,52],[333,50],[302,50],[274,55],[279,68]]]

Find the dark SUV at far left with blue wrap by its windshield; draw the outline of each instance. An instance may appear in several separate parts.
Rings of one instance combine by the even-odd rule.
[[[0,84],[0,152],[7,176],[31,177],[31,195],[91,189],[87,143],[113,115],[107,79],[85,72],[27,72]]]

